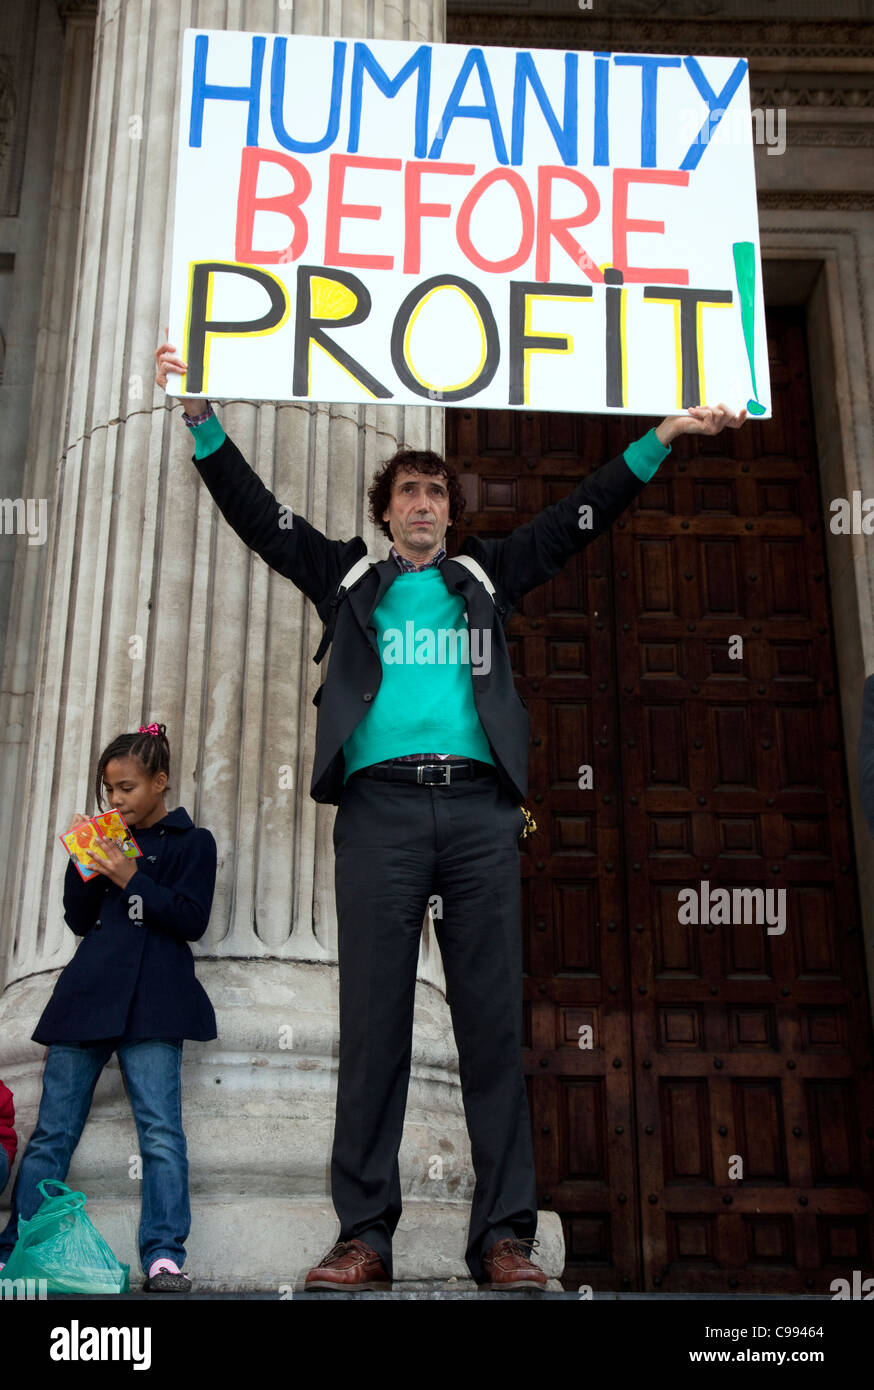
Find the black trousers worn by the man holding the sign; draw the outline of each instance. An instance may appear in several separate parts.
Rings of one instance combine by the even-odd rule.
[[[352,777],[333,828],[340,1049],[332,1197],[340,1240],[392,1273],[402,1212],[397,1151],[410,1081],[422,919],[432,894],[477,1184],[465,1259],[531,1237],[536,1188],[521,1066],[517,837],[522,812],[496,777],[420,787]]]

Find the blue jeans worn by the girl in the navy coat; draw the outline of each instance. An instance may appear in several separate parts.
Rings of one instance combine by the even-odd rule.
[[[190,1229],[188,1152],[182,1133],[182,1041],[53,1042],[46,1056],[43,1094],[13,1187],[11,1215],[0,1233],[0,1262],[18,1240],[18,1218],[29,1220],[43,1198],[44,1177],[64,1182],[90,1111],[97,1077],[113,1052],[125,1081],[142,1159],[139,1257],[143,1272],[161,1255],[182,1268]],[[118,1175],[128,1179],[128,1169]]]

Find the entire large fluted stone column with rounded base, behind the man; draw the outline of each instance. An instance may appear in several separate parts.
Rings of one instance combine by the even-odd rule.
[[[292,1284],[336,1234],[327,1186],[336,1084],[333,808],[308,796],[318,617],[217,514],[189,461],[179,409],[153,393],[151,353],[167,322],[183,28],[224,28],[231,18],[242,31],[317,33],[322,17],[329,32],[349,38],[438,40],[443,32],[442,6],[425,0],[303,0],[293,10],[282,0],[100,6],[22,777],[29,833],[11,860],[19,870],[0,929],[14,933],[0,1074],[29,1122],[42,1049],[28,1038],[72,949],[56,833],[74,810],[93,809],[100,748],[121,730],[163,720],[174,755],[171,803],[208,826],[220,847],[211,926],[197,948],[220,1037],[185,1049],[190,1265],[214,1287]],[[425,407],[220,409],[243,455],[295,512],[328,535],[360,532],[377,546],[364,518],[375,464],[403,442],[442,446],[440,411]],[[286,767],[292,790],[282,787]],[[110,1068],[71,1182],[133,1268],[135,1152],[121,1079]],[[428,941],[402,1170],[397,1276],[407,1250],[420,1275],[464,1275],[472,1173]],[[554,1232],[550,1247],[554,1264]]]

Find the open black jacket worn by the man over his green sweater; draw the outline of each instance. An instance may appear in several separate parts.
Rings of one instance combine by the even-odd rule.
[[[289,525],[272,492],[228,438],[214,453],[193,461],[236,534],[296,584],[315,603],[322,623],[328,623],[338,584],[367,555],[363,538],[329,541],[297,513]],[[472,556],[486,571],[497,606],[464,566],[452,559],[440,563],[446,587],[464,598],[470,627],[492,631],[490,670],[472,677],[474,699],[500,780],[516,799],[524,799],[528,788],[528,714],[513,681],[504,628],[522,595],[559,574],[613,524],[643,486],[620,455],[506,539],[468,537],[461,553]],[[579,527],[584,505],[592,507],[591,530]],[[367,714],[382,681],[372,613],[399,573],[392,559],[374,566],[336,612],[328,673],[314,698],[318,705],[310,787],[314,801],[339,803],[343,742]]]

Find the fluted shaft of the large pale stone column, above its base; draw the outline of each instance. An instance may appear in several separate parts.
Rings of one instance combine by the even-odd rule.
[[[183,29],[314,33],[327,21],[356,38],[368,15],[370,36],[439,38],[440,7],[417,0],[100,7],[49,578],[18,781],[28,823],[46,837],[22,835],[11,860],[19,870],[6,922],[21,930],[7,942],[7,984],[68,958],[56,831],[74,810],[93,809],[100,748],[153,719],[168,727],[172,801],[220,845],[200,949],[336,956],[333,809],[308,798],[320,621],[217,516],[190,466],[181,411],[153,392],[151,352],[167,317]],[[381,538],[364,510],[374,467],[400,442],[442,439],[440,413],[428,407],[238,402],[222,418],[295,512],[328,535],[363,532],[372,545]],[[14,820],[10,831],[14,844]]]

